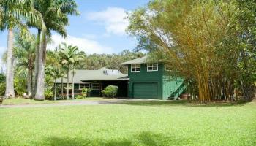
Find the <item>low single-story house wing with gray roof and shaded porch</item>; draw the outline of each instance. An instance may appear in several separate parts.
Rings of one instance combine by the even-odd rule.
[[[83,88],[90,88],[89,96],[99,97],[102,96],[102,90],[108,85],[118,86],[117,96],[119,98],[127,98],[128,91],[128,76],[122,74],[118,70],[107,69],[103,67],[98,70],[75,70],[74,77],[72,71],[69,72],[69,96],[72,94],[72,82],[74,82],[74,93],[78,96],[82,93]],[[63,79],[58,78],[55,81],[56,86],[61,88],[61,82],[64,83],[64,95],[67,90],[67,75]],[[58,94],[61,94],[60,89]]]

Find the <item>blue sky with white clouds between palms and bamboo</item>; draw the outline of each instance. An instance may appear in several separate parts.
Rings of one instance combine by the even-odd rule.
[[[76,0],[80,15],[69,17],[67,39],[53,32],[54,49],[61,42],[76,45],[87,54],[120,53],[136,47],[135,38],[126,34],[126,12],[145,5],[148,0]],[[7,50],[7,31],[0,32],[0,58]],[[0,68],[4,66],[0,61]]]

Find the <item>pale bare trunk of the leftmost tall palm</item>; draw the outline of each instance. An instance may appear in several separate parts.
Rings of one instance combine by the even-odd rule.
[[[12,56],[12,48],[13,48],[13,31],[12,28],[8,31],[8,40],[7,40],[7,72],[6,72],[6,90],[5,90],[5,97],[4,98],[12,98],[15,96],[14,92],[14,58]]]

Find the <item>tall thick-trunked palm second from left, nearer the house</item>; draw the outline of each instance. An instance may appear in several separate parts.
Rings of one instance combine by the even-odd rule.
[[[50,38],[50,31],[56,31],[61,36],[67,37],[65,26],[69,24],[67,15],[78,15],[77,5],[74,0],[37,0],[34,5],[41,15],[45,26],[39,27],[42,33],[40,48],[37,51],[38,60],[36,61],[37,70],[37,85],[35,85],[36,100],[44,100],[45,88],[45,59],[47,37]]]

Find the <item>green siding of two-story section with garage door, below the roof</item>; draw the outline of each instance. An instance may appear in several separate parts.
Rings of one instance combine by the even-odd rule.
[[[140,64],[140,72],[131,72],[131,65],[128,69],[129,98],[165,100],[184,82],[181,77],[171,77],[164,64],[158,64],[154,72],[148,72],[146,64]]]

